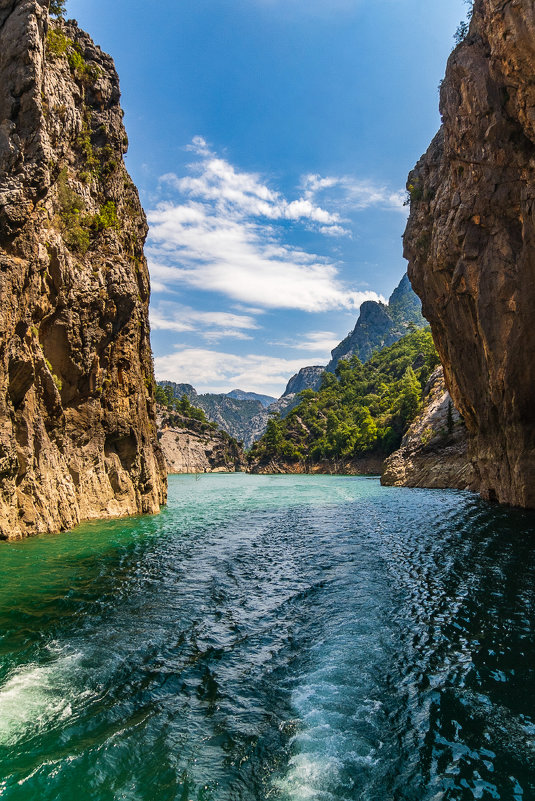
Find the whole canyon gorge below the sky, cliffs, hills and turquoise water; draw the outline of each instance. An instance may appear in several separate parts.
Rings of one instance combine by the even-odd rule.
[[[533,3],[473,3],[408,273],[279,399],[156,381],[119,79],[64,12],[0,0],[0,798],[529,801]]]

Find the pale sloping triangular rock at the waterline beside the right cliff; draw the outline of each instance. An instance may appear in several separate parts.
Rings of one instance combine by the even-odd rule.
[[[475,489],[477,475],[468,457],[466,426],[452,404],[442,367],[432,373],[421,413],[401,447],[385,460],[385,486]]]

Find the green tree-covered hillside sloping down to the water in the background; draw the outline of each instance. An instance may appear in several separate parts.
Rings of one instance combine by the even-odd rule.
[[[254,464],[318,462],[394,451],[418,413],[438,364],[431,332],[413,330],[364,364],[342,359],[317,392],[305,390],[284,419],[273,417],[253,445]]]

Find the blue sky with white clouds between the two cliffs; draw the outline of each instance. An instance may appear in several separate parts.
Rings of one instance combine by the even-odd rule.
[[[115,59],[156,377],[278,397],[406,270],[463,0],[68,0]]]

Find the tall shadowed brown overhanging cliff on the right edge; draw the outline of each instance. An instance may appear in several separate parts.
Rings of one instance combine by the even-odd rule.
[[[409,276],[481,494],[535,507],[535,6],[476,0],[409,176]]]

